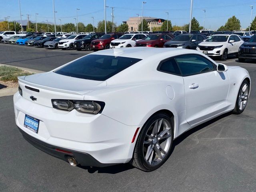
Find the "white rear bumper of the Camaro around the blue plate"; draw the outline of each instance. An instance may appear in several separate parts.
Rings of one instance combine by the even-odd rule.
[[[138,126],[122,124],[103,114],[56,110],[28,100],[18,92],[14,94],[14,112],[16,125],[26,135],[51,146],[47,153],[53,153],[54,146],[81,156],[89,154],[101,164],[127,163],[132,158],[136,142],[131,141]],[[38,133],[24,127],[25,114],[40,120]],[[66,160],[63,154],[61,157]],[[86,162],[84,166],[88,165]]]

